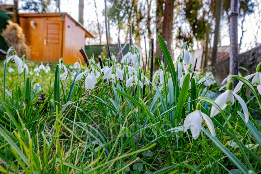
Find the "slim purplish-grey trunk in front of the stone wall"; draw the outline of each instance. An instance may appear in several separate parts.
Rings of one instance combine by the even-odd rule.
[[[239,0],[231,0],[230,3],[230,58],[229,58],[229,74],[238,75],[238,2]],[[234,87],[237,83],[236,79],[232,79]]]

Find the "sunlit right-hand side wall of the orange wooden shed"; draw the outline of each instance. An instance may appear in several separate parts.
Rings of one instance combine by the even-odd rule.
[[[75,63],[77,57],[84,59],[79,51],[85,47],[85,31],[78,27],[68,16],[65,16],[63,60],[65,63]]]

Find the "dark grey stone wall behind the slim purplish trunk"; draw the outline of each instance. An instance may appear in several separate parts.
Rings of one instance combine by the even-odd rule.
[[[261,46],[258,46],[239,55],[239,67],[245,67],[251,74],[256,72],[257,64],[260,62]],[[216,70],[216,72],[214,73],[214,77],[217,81],[217,85],[221,86],[222,80],[226,78],[229,74],[229,58],[217,62],[215,67],[212,67],[212,69]],[[247,72],[245,70],[239,69],[239,71],[243,76],[247,75]]]

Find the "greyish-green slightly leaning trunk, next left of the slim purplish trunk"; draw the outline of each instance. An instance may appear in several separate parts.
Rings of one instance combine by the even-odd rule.
[[[214,43],[212,48],[212,72],[215,70],[215,64],[217,62],[217,44],[219,40],[219,30],[220,30],[220,19],[223,11],[223,0],[216,1],[216,24],[215,24],[215,31],[214,31]]]

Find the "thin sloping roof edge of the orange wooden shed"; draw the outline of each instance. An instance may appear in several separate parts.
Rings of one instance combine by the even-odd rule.
[[[11,16],[13,14],[10,14]],[[77,22],[75,19],[73,19],[72,16],[70,16],[68,13],[66,12],[61,12],[61,13],[19,13],[19,17],[57,17],[57,16],[68,16],[77,26],[79,26],[80,28],[82,28],[85,31],[85,37],[86,38],[94,38],[85,28],[84,26],[80,23]]]

